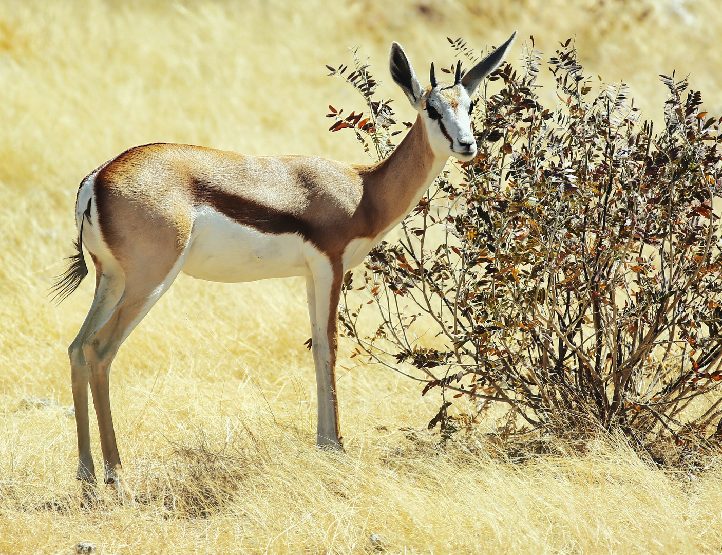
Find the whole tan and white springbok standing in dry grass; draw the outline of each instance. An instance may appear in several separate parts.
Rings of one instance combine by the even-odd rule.
[[[78,438],[77,478],[95,483],[87,385],[100,429],[104,478],[121,488],[108,381],[118,348],[181,270],[242,282],[305,276],[318,390],[319,447],[343,450],[336,397],[339,294],[344,272],[417,204],[450,156],[471,160],[471,95],[503,60],[502,46],[456,80],[422,88],[399,43],[391,77],[418,112],[401,144],[374,165],[317,156],[255,157],[190,145],[134,147],[80,184],[78,229],[58,300],[95,264],[95,298],[69,348]]]

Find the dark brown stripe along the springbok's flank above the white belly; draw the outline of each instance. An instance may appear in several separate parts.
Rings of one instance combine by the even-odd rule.
[[[197,204],[209,205],[227,218],[261,233],[297,233],[313,242],[310,225],[282,210],[216,189],[198,178],[191,178],[191,194]]]

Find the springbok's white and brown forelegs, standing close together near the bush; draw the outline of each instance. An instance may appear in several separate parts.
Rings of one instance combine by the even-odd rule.
[[[318,391],[318,447],[343,451],[339,402],[336,397],[336,350],[338,349],[338,308],[343,270],[341,261],[319,261],[311,268],[313,278],[306,280],[309,290],[308,313],[311,319],[313,363]],[[313,285],[313,295],[310,293]],[[313,302],[312,302],[313,301]],[[315,310],[312,311],[312,304]],[[314,320],[315,325],[314,325]]]

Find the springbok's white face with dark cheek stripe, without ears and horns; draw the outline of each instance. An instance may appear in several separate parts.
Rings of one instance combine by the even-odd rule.
[[[464,87],[441,83],[427,90],[419,107],[429,142],[438,155],[466,162],[477,155],[477,141],[471,132],[474,103]]]

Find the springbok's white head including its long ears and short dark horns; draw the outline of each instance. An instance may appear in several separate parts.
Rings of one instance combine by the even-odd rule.
[[[471,97],[484,77],[493,72],[506,56],[516,38],[516,31],[499,48],[461,75],[461,61],[456,64],[453,83],[437,82],[431,64],[430,87],[423,89],[409,59],[399,43],[391,43],[388,64],[391,77],[409,98],[426,125],[432,150],[457,160],[471,160],[477,155],[477,142],[471,132]]]

